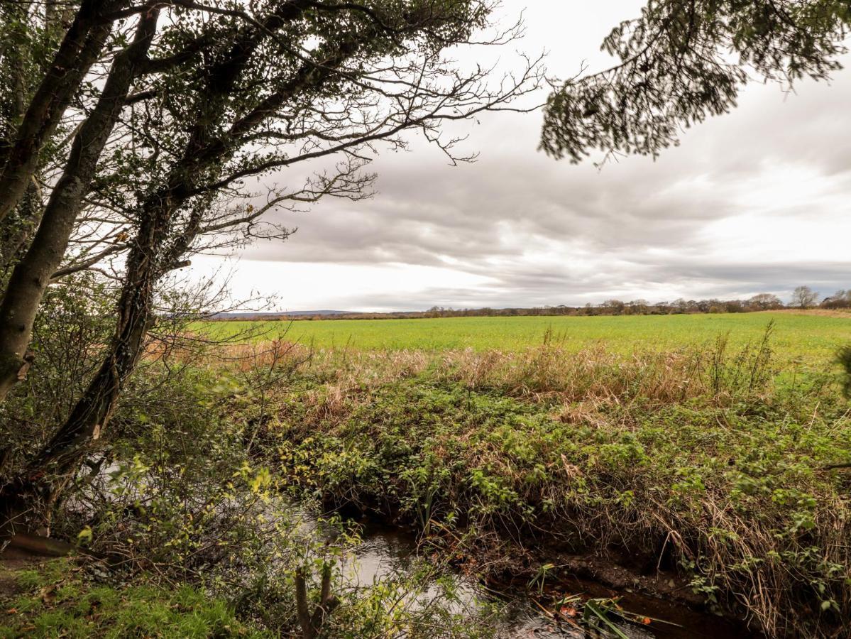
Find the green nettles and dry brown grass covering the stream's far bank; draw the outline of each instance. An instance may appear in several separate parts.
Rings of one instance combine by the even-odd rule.
[[[779,374],[768,339],[349,357],[311,362],[266,407],[266,459],[302,494],[479,544],[630,551],[771,635],[851,620],[851,421],[834,373]]]

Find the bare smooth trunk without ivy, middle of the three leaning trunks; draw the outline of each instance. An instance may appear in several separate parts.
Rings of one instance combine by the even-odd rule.
[[[26,349],[38,306],[65,255],[83,197],[133,78],[146,60],[157,15],[157,10],[151,9],[142,16],[134,42],[113,62],[98,105],[74,138],[65,172],[50,194],[36,237],[12,271],[0,305],[0,402],[26,373]]]

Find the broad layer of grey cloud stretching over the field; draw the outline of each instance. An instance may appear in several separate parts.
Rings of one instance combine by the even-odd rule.
[[[397,291],[387,300],[329,291],[328,305],[352,308],[560,304],[663,288],[723,297],[798,283],[830,293],[851,286],[851,263],[820,261],[820,247],[808,260],[777,256],[761,265],[727,255],[717,263],[718,240],[706,231],[750,214],[741,203],[749,180],[781,165],[829,179],[825,197],[851,209],[851,197],[840,199],[851,196],[849,104],[851,70],[830,86],[802,83],[798,94],[751,86],[737,110],[685,132],[682,145],[658,161],[628,157],[599,171],[537,152],[539,115],[484,117],[467,143],[481,151],[477,163],[451,168],[435,149],[414,142],[411,153],[376,160],[374,199],[283,214],[299,227],[294,237],[259,243],[243,259],[450,265],[494,278],[474,289],[426,286],[406,292],[404,302]],[[802,222],[835,213],[819,202],[767,197],[757,204],[777,219]]]

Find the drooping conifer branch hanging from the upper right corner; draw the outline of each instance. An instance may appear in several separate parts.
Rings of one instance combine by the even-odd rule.
[[[556,84],[541,148],[657,156],[682,128],[736,106],[751,78],[791,85],[840,68],[851,5],[837,0],[650,0],[603,50],[620,62]]]

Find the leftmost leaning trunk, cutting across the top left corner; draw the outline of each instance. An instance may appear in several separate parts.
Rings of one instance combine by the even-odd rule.
[[[32,96],[14,140],[0,156],[0,221],[20,202],[38,167],[44,143],[53,134],[62,115],[89,68],[98,59],[111,31],[106,14],[125,0],[83,0],[54,56],[53,63]]]

